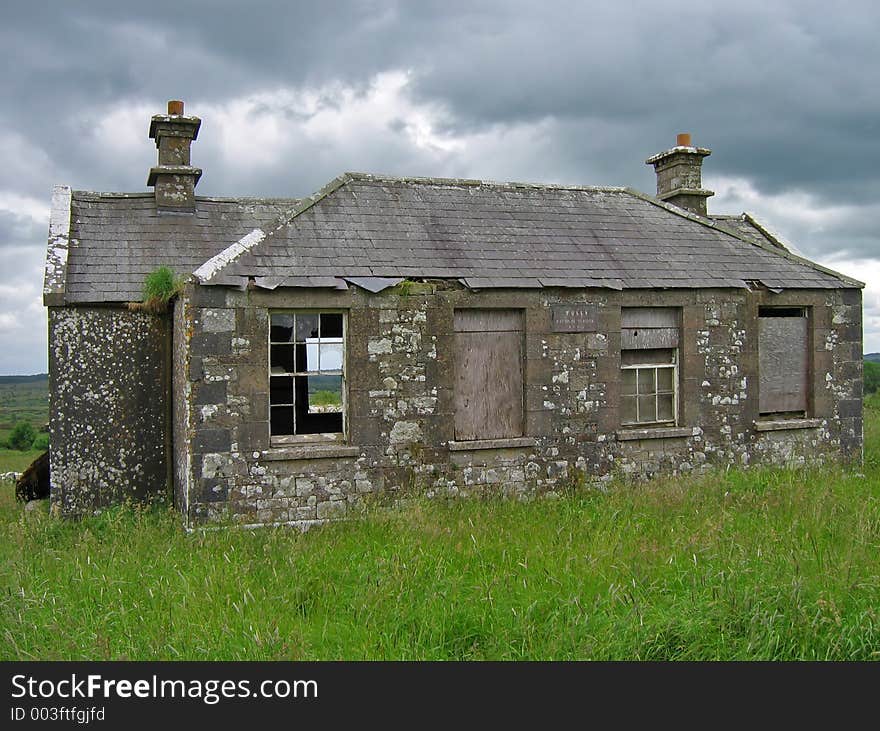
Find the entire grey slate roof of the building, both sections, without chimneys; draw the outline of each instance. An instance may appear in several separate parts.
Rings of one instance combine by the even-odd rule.
[[[374,290],[400,277],[474,289],[863,286],[746,217],[705,219],[626,188],[346,173],[302,201],[197,197],[192,215],[158,213],[153,193],[69,195],[67,303],[139,300],[163,265],[270,289]],[[47,272],[59,252],[50,238]]]

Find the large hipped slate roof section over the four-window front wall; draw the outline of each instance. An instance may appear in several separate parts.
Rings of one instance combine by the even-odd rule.
[[[204,284],[429,277],[475,289],[861,286],[630,189],[360,173],[337,178],[216,263],[197,272]]]

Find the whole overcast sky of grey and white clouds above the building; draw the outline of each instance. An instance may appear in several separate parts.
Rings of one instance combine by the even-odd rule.
[[[143,191],[150,115],[202,118],[203,195],[346,170],[629,185],[677,132],[714,213],[867,282],[880,351],[880,5],[794,0],[149,3],[0,9],[0,374],[47,369],[51,186]]]

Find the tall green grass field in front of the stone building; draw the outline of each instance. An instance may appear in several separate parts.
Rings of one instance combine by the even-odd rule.
[[[417,500],[187,535],[0,503],[0,658],[880,659],[880,401],[862,471],[750,470],[531,504]]]

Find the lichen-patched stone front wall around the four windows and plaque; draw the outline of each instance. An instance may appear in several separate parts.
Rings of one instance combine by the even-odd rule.
[[[554,332],[551,306],[558,303],[594,306],[593,331]],[[810,418],[766,429],[755,423],[761,421],[756,333],[763,304],[812,313]],[[673,428],[620,427],[620,308],[633,306],[681,311]],[[454,441],[456,307],[524,310],[523,438]],[[270,444],[268,313],[288,308],[348,313],[345,444]],[[190,524],[307,525],[344,517],[365,496],[393,500],[410,489],[532,496],[572,480],[861,454],[858,290],[475,293],[451,283],[407,283],[370,294],[355,287],[196,287],[189,316],[191,461],[185,475],[178,470],[177,482],[188,496]]]

